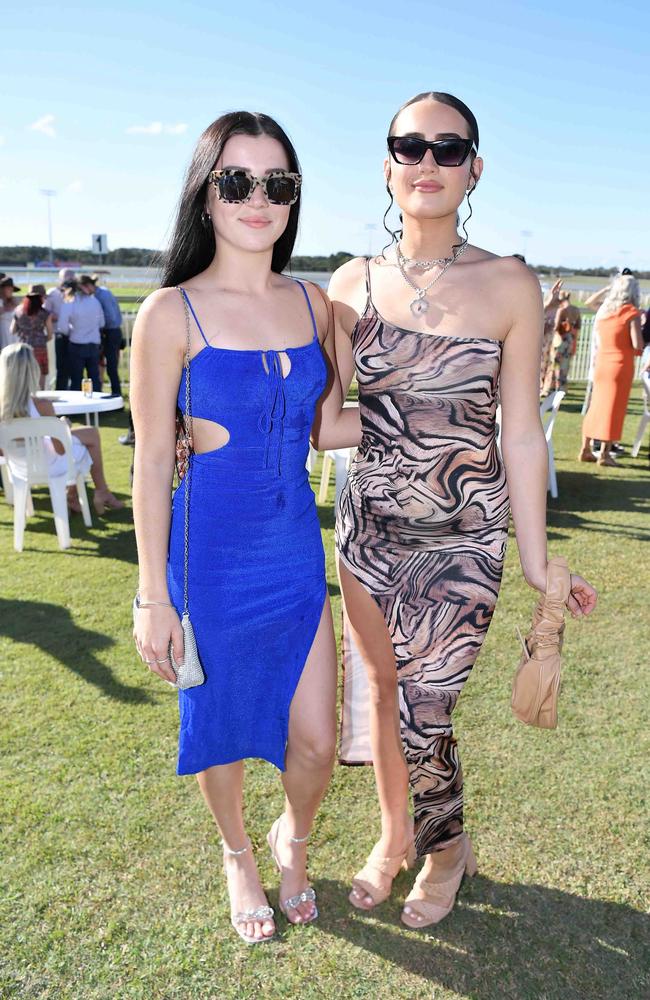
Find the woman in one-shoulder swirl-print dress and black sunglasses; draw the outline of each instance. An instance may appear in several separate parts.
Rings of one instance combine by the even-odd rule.
[[[349,261],[330,284],[339,370],[345,387],[356,367],[363,432],[337,524],[347,647],[341,756],[371,755],[382,820],[350,900],[371,909],[399,867],[423,857],[402,912],[410,927],[446,916],[463,874],[475,871],[452,711],[494,611],[510,509],[524,576],[537,590],[546,585],[543,307],[524,264],[458,235],[458,209],[483,167],[478,141],[474,115],[457,98],[425,93],[405,104],[384,164],[402,213],[397,246]],[[574,575],[572,613],[589,614],[595,601]],[[358,677],[349,683],[355,656],[367,675],[363,705]]]

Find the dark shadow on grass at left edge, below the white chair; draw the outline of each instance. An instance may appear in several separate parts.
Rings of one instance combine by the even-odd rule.
[[[109,698],[131,704],[153,703],[151,696],[140,688],[121,684],[110,667],[97,659],[96,651],[113,646],[114,640],[101,632],[80,628],[67,608],[40,601],[0,598],[0,635],[38,647]],[[29,662],[27,654],[25,660]]]

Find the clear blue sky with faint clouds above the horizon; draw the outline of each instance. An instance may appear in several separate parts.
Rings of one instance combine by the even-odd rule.
[[[301,160],[297,250],[379,250],[394,111],[447,90],[485,172],[470,239],[534,263],[650,268],[647,4],[29,4],[3,23],[0,244],[164,245],[196,138],[278,118]],[[368,229],[376,225],[377,229]],[[529,234],[529,235],[525,235]]]

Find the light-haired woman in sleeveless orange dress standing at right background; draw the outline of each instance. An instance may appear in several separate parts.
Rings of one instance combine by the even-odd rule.
[[[623,435],[634,356],[643,347],[640,316],[638,281],[632,275],[619,275],[596,313],[599,348],[591,402],[582,424],[581,462],[596,461],[590,440],[597,438],[601,441],[598,464],[617,464],[610,449]]]

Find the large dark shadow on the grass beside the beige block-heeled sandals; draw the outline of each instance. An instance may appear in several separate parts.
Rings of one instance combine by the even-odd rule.
[[[406,876],[402,881],[406,887]],[[372,914],[350,907],[341,917],[349,886],[319,880],[318,925],[325,934],[472,1000],[649,995],[648,916],[539,885],[480,875],[471,886],[467,881],[446,920],[426,931],[408,931],[394,897]]]

